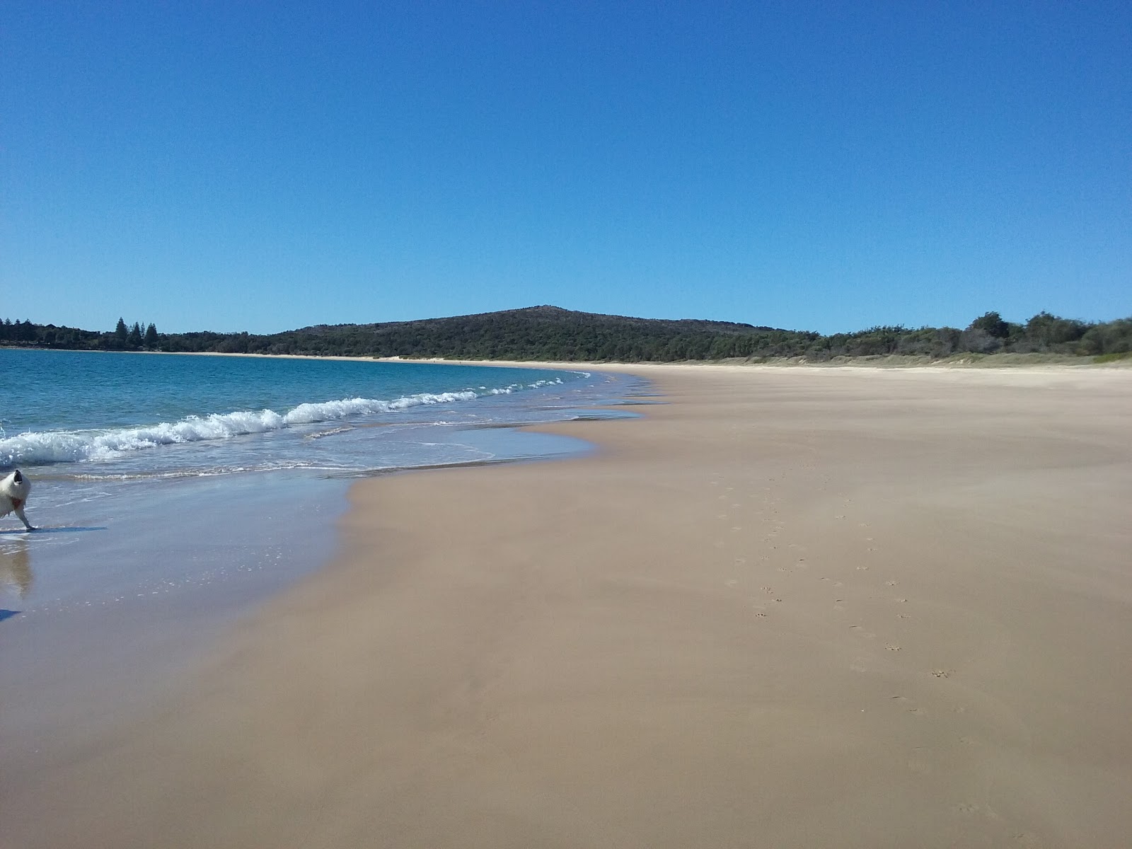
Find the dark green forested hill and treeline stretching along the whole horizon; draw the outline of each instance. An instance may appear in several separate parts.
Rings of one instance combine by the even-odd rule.
[[[0,323],[0,345],[109,351],[440,357],[486,360],[679,361],[731,358],[1048,352],[1115,357],[1132,351],[1132,318],[1089,323],[1039,312],[1024,323],[987,312],[964,329],[871,327],[823,336],[730,321],[655,319],[576,312],[559,307],[383,324],[316,325],[269,335],[142,332],[121,319],[111,332],[32,321]]]

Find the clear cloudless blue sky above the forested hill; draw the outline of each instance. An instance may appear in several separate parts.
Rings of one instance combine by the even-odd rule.
[[[1125,2],[0,2],[0,316],[1132,315]]]

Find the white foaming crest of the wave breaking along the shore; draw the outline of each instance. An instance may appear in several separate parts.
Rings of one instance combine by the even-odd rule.
[[[538,388],[561,380],[538,380],[533,384],[512,384],[489,389],[487,394],[511,394],[517,389]],[[111,460],[131,451],[155,448],[162,445],[197,443],[209,439],[230,439],[250,434],[283,430],[294,424],[346,419],[408,410],[422,404],[449,404],[473,401],[479,394],[464,392],[422,392],[383,401],[380,398],[341,398],[319,403],[303,403],[280,414],[274,410],[240,410],[211,415],[188,415],[175,422],[158,422],[132,428],[106,430],[51,430],[29,431],[0,438],[0,465],[75,463]]]

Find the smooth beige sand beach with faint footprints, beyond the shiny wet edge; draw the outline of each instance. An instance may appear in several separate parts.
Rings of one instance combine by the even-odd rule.
[[[640,368],[0,799],[5,847],[1116,847],[1132,371]]]

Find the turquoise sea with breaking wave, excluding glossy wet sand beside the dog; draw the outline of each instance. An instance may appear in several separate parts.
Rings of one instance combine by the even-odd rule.
[[[585,371],[0,349],[0,468],[50,477],[490,460],[453,432],[594,401]],[[534,409],[541,409],[539,414]]]

